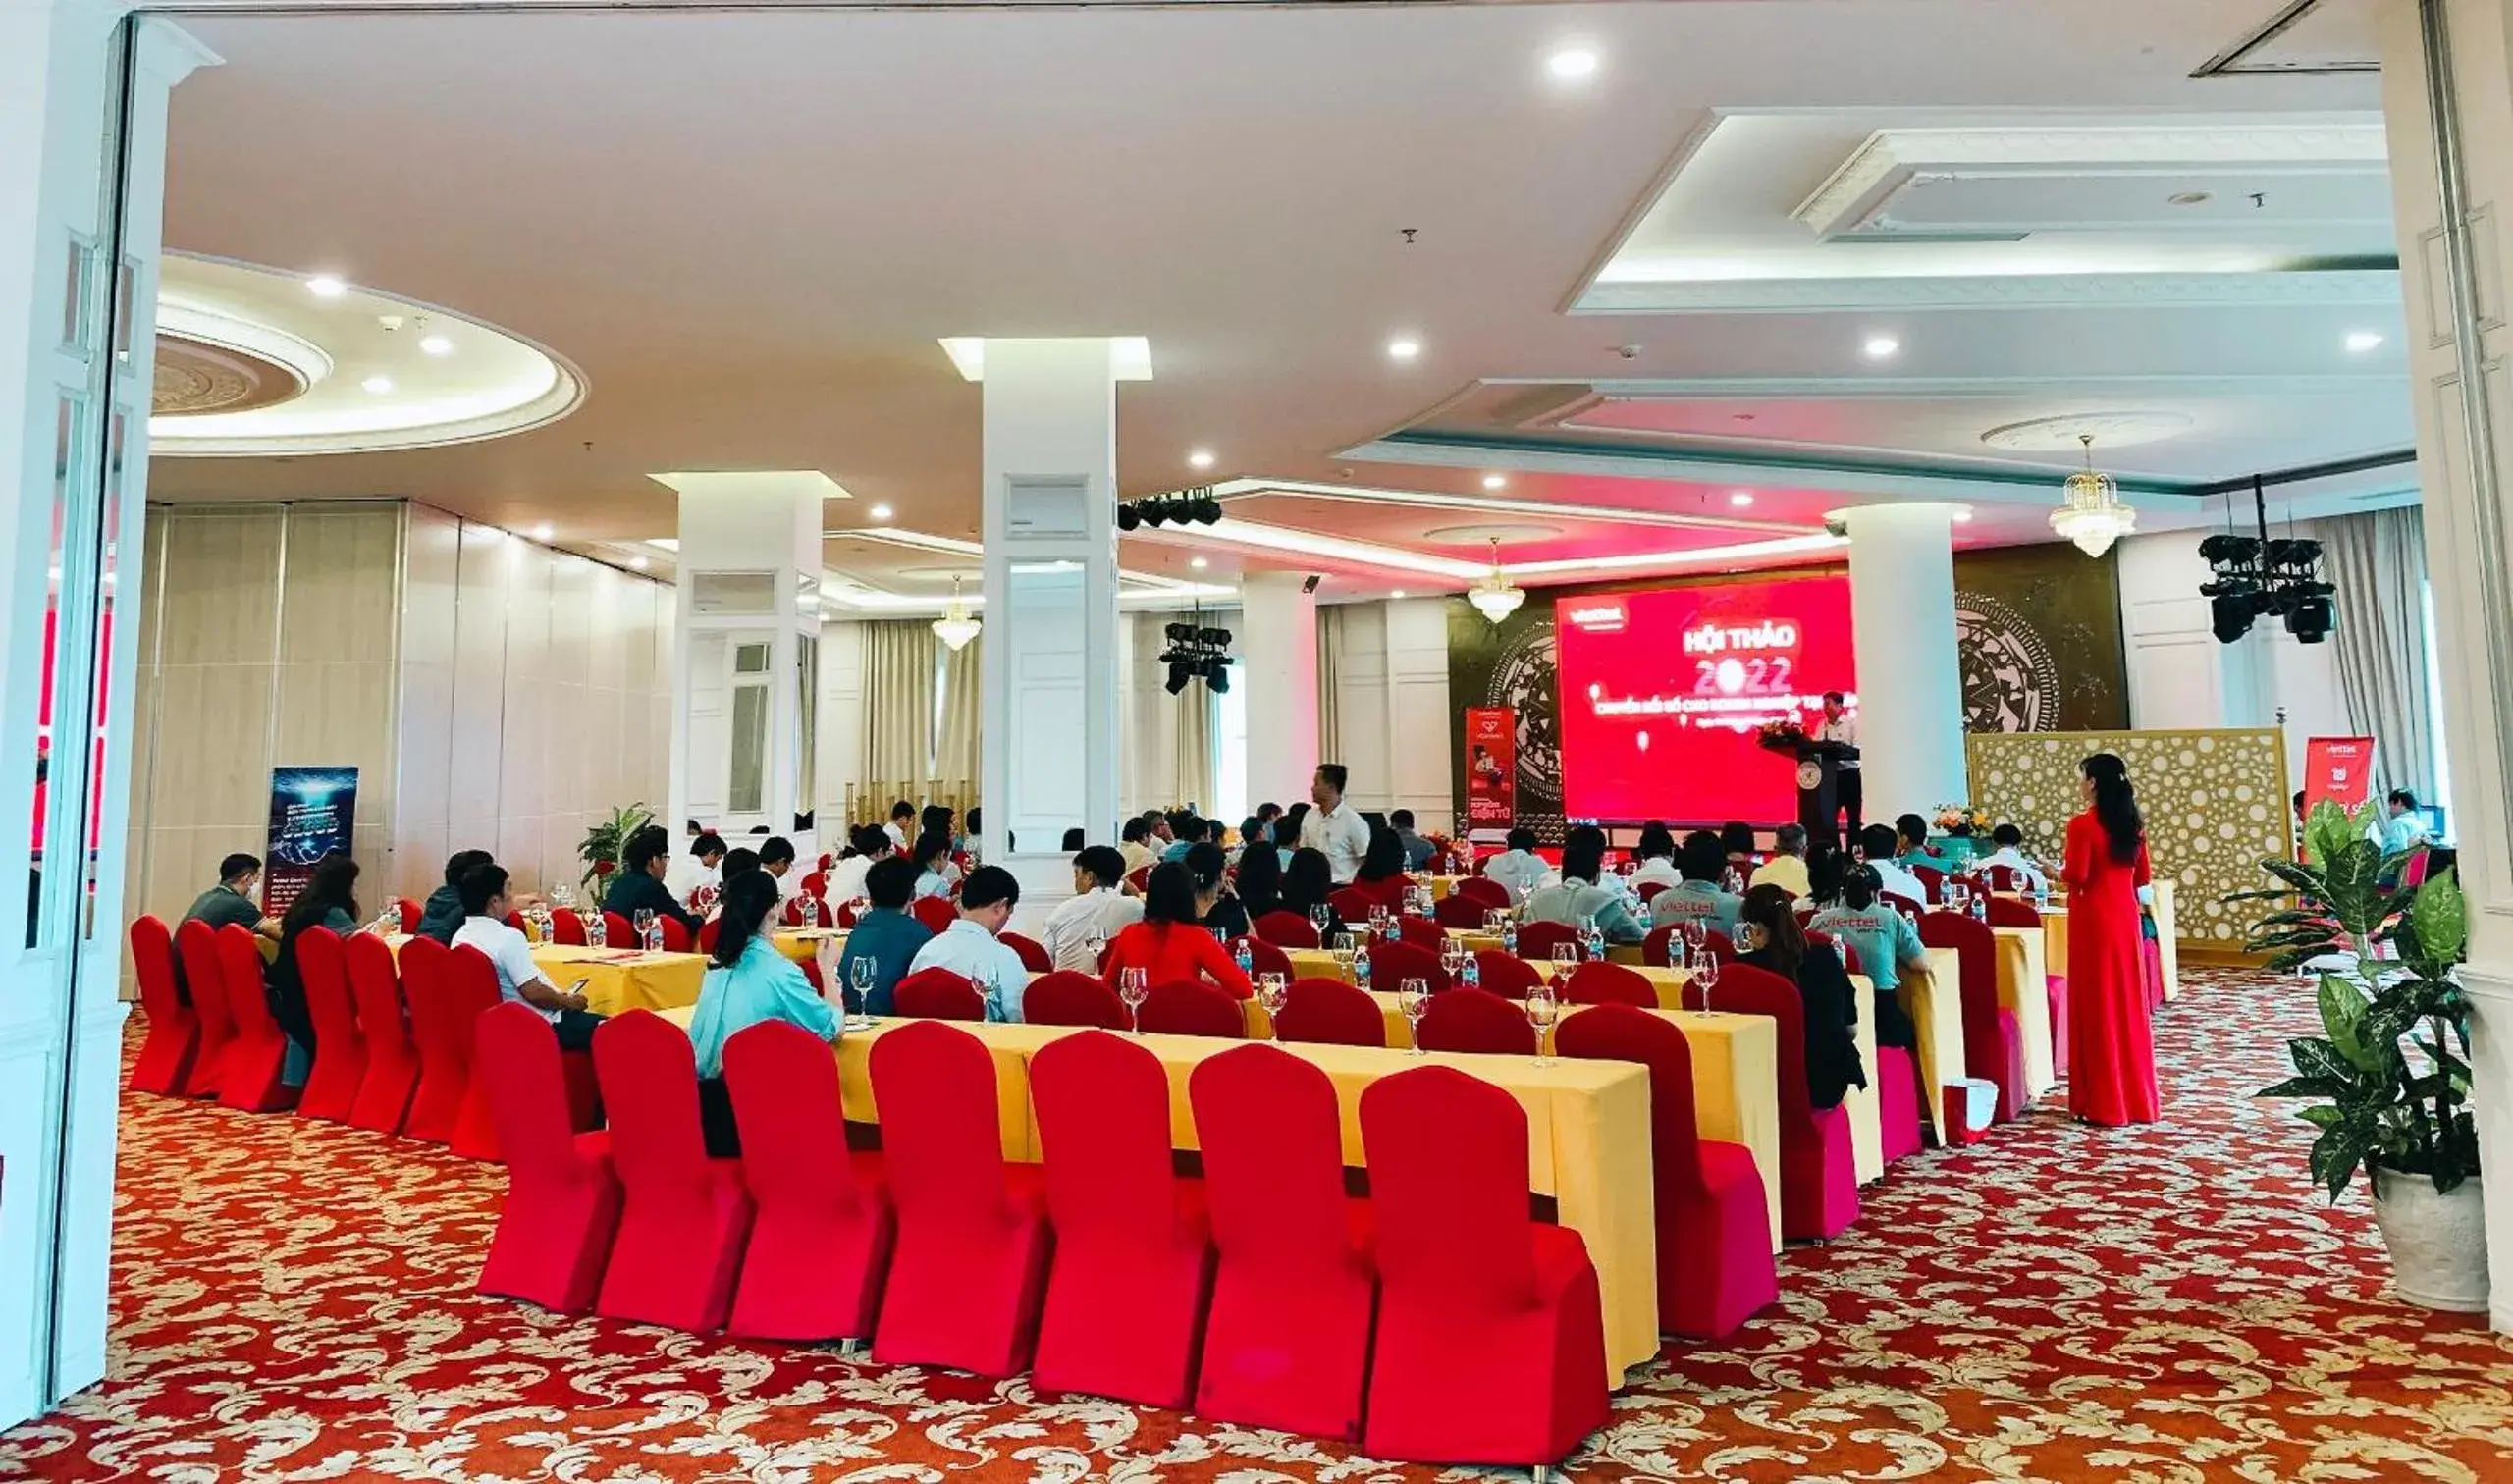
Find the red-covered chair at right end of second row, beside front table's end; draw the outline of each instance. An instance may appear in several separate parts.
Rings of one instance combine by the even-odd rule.
[[[1704,1140],[1694,1125],[1694,1052],[1674,1022],[1603,1004],[1566,1014],[1563,1057],[1649,1067],[1649,1148],[1656,1168],[1659,1328],[1714,1341],[1779,1301],[1772,1203],[1754,1150]]]

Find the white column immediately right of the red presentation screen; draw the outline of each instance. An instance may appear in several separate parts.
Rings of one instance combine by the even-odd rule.
[[[1927,814],[1965,791],[1953,515],[1950,505],[1847,512],[1870,824]]]

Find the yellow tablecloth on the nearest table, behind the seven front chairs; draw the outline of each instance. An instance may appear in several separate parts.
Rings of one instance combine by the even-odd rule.
[[[689,1012],[668,1019],[689,1024]],[[839,1100],[849,1120],[880,1122],[872,1102],[872,1042],[907,1024],[877,1019],[847,1032],[837,1045]],[[1003,1150],[1015,1160],[1038,1158],[1030,1120],[1028,1057],[1055,1037],[1076,1035],[1053,1024],[960,1024],[995,1055],[995,1092]],[[1151,1035],[1141,1045],[1169,1067],[1171,1140],[1196,1148],[1186,1080],[1196,1062],[1239,1042]],[[1659,1255],[1649,1165],[1649,1072],[1628,1062],[1553,1062],[1533,1057],[1412,1057],[1375,1047],[1282,1047],[1314,1062],[1334,1082],[1344,1115],[1344,1163],[1367,1168],[1360,1100],[1375,1080],[1407,1067],[1447,1065],[1483,1077],[1528,1110],[1528,1188],[1551,1195],[1561,1223],[1588,1243],[1606,1303],[1606,1363],[1621,1374],[1659,1353]]]

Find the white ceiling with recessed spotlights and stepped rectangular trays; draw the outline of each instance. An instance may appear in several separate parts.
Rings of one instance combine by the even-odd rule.
[[[1128,540],[1151,580],[1463,588],[1483,555],[1427,532],[1495,520],[1556,532],[1510,562],[1726,550],[1945,497],[1927,472],[1983,460],[2000,477],[1960,487],[1965,537],[2031,540],[2071,460],[1990,449],[1990,427],[2176,412],[2189,434],[2106,460],[2176,482],[2407,444],[2397,281],[2367,261],[2390,231],[2362,151],[2377,80],[2191,78],[2282,8],[199,15],[226,65],[176,93],[168,246],[460,309],[588,397],[462,447],[161,460],[153,492],[412,495],[636,550],[673,520],[653,472],[819,470],[854,495],[832,530],[890,505],[970,540],[983,389],[937,336],[1141,334],[1123,490],[1224,482],[1244,535]],[[1563,45],[1596,75],[1551,75]],[[2071,131],[2134,148],[2071,163]],[[1887,216],[2028,236],[1827,244],[1792,218],[1880,133],[1917,173],[2008,138],[1983,178],[1887,183]],[[2269,176],[2274,206],[2249,206]],[[1701,296],[1583,304],[1608,289]],[[1382,352],[1400,331],[1412,364]],[[2352,331],[2385,341],[2350,354]],[[1865,359],[1875,334],[1900,354]],[[2149,525],[2204,520],[2141,500]],[[902,598],[962,565],[890,540],[829,562]]]

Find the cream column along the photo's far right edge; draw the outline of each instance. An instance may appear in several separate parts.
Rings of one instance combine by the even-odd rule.
[[[2505,286],[2513,281],[2513,239],[2495,229],[2513,206],[2513,5],[2450,0],[2448,85],[2458,93],[2463,216],[2475,281],[2473,316],[2483,331],[2463,336],[2448,269],[2443,173],[2430,116],[2425,35],[2418,0],[2382,0],[2382,123],[2390,136],[2390,181],[2400,221],[2400,291],[2407,304],[2410,392],[2418,407],[2418,480],[2425,490],[2425,560],[2435,590],[2433,683],[2443,693],[2450,756],[2450,811],[2460,844],[2460,886],[2470,901],[2470,1112],[2478,1163],[2488,1170],[2488,1268],[2493,1326],[2513,1333],[2513,768],[2505,711],[2513,708],[2513,384],[2503,357]],[[2387,334],[2397,324],[2377,324]],[[2485,394],[2463,397],[2463,354],[2485,369]],[[2470,427],[2475,419],[2478,427]],[[2473,454],[2493,452],[2495,477],[2478,475]],[[2350,593],[2340,593],[2347,623]]]

